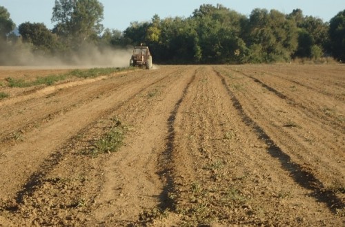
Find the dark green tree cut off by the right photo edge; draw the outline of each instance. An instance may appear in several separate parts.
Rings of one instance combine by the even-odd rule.
[[[333,56],[345,62],[345,10],[339,12],[329,23],[329,36]]]

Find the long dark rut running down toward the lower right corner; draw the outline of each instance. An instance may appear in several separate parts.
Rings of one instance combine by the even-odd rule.
[[[224,87],[226,87],[226,90],[233,101],[233,105],[237,111],[239,111],[243,121],[246,123],[246,125],[253,128],[255,133],[257,133],[258,138],[266,143],[268,146],[268,153],[270,153],[273,158],[277,158],[279,162],[281,162],[282,168],[290,173],[290,176],[293,177],[295,182],[306,189],[314,191],[311,196],[315,197],[318,202],[326,204],[333,213],[337,213],[337,209],[345,208],[344,202],[342,202],[342,200],[339,199],[333,191],[325,189],[322,182],[320,182],[317,177],[313,175],[313,173],[306,171],[306,169],[304,169],[301,165],[293,162],[290,156],[284,153],[284,151],[277,146],[277,144],[270,138],[270,136],[268,136],[264,129],[257,125],[257,123],[246,114],[241,103],[236,98],[235,94],[233,94],[233,91],[231,91],[228,87],[224,76],[222,76],[221,73],[217,72],[216,70],[215,72],[219,78],[221,78],[221,82],[223,83]],[[272,88],[270,88],[270,90],[273,92],[276,91]],[[277,91],[277,95],[278,94],[280,94],[279,91]],[[283,98],[286,96],[281,94],[279,97]]]

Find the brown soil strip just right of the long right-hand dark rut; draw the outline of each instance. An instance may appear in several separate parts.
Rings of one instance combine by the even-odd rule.
[[[230,80],[239,84],[234,91],[244,99],[244,107],[250,117],[262,118],[262,127],[270,128],[272,133],[282,133],[275,141],[288,146],[286,150],[295,157],[295,162],[312,168],[323,179],[322,182],[327,182],[328,187],[342,187],[344,135],[341,129],[335,131],[328,124],[320,123],[322,120],[315,118],[312,111],[291,105],[275,92],[270,94],[262,91],[254,82],[243,78],[243,74],[233,74]],[[238,86],[242,86],[241,89]],[[312,150],[313,155],[310,152]]]

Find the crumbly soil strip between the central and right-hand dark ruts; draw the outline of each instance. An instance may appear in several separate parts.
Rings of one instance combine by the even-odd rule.
[[[155,225],[308,225],[333,223],[324,204],[295,183],[267,144],[246,125],[210,67],[197,71],[174,123],[172,151],[175,206]],[[200,108],[202,107],[202,108]],[[182,164],[183,163],[183,164]],[[263,196],[265,195],[265,196]],[[299,204],[314,207],[305,211]],[[308,206],[308,205],[306,205]],[[284,210],[294,209],[292,215]],[[335,223],[339,223],[335,222]]]

